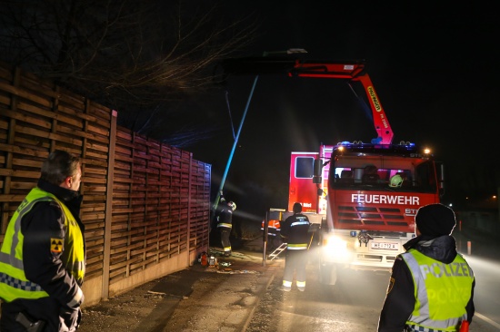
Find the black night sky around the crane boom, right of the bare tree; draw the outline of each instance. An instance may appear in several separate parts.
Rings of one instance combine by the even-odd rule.
[[[500,21],[491,3],[226,3],[234,17],[254,15],[260,22],[255,42],[241,56],[304,48],[314,60],[364,59],[393,142],[430,146],[445,162],[446,199],[496,193]],[[213,139],[190,149],[213,165],[215,192],[234,142],[226,95],[237,131],[254,78],[230,76],[199,101],[223,124]],[[266,209],[286,207],[291,151],[375,137],[371,113],[345,82],[261,75],[225,195],[245,218],[262,220]]]

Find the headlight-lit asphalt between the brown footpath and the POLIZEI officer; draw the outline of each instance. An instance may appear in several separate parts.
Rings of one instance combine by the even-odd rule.
[[[317,282],[307,266],[305,292],[280,290],[275,278],[256,310],[248,331],[375,331],[385,297],[388,272],[349,271],[335,287]]]

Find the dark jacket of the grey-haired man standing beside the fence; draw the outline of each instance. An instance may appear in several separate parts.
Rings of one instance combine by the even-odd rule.
[[[84,224],[79,219],[83,196],[77,191],[66,190],[42,180],[38,181],[38,188],[52,193],[58,200],[63,201],[84,234]],[[63,211],[54,202],[37,202],[23,217],[21,231],[25,236],[23,246],[25,276],[44,288],[49,297],[16,299],[10,303],[2,303],[0,330],[7,331],[13,326],[18,326],[15,323],[15,316],[19,312],[27,313],[34,320],[44,320],[45,331],[57,331],[59,320],[64,320],[66,326],[75,326],[75,322],[79,321],[80,308],[68,308],[66,303],[75,298],[82,285],[78,285],[76,279],[65,270],[61,260],[62,253],[55,255],[47,249],[47,243],[50,243],[51,239],[65,238],[64,225]]]

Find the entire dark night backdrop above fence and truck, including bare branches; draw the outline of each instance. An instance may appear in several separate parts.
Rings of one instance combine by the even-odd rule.
[[[445,162],[444,202],[497,207],[498,16],[484,0],[4,0],[0,60],[212,164],[213,200],[255,79],[221,81],[222,60],[290,48],[316,61],[365,60],[394,142],[427,146]],[[344,81],[261,75],[225,195],[238,218],[262,220],[287,206],[291,151],[375,136]]]

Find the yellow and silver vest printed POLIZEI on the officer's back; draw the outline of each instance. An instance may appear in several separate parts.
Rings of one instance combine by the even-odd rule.
[[[474,272],[457,254],[450,264],[431,259],[410,249],[401,255],[415,283],[415,308],[406,321],[417,330],[457,331],[467,319],[466,305],[471,298]]]

